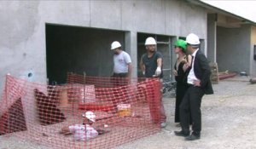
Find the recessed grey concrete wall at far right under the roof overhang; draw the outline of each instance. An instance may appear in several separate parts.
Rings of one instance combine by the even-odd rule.
[[[250,26],[217,27],[218,71],[250,73]]]

